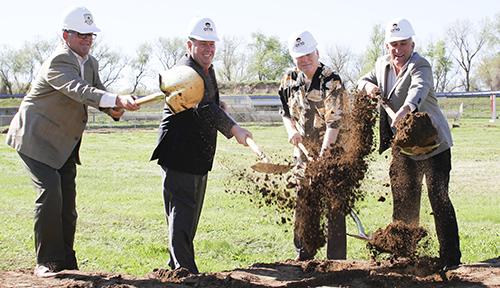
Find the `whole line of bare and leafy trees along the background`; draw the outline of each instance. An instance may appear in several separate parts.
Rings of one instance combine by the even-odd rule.
[[[35,39],[19,49],[0,47],[0,93],[27,93],[35,73],[59,41]],[[446,28],[443,39],[416,46],[432,65],[437,92],[500,90],[500,13],[481,23],[456,20]],[[384,53],[383,27],[376,24],[364,53],[333,45],[321,51],[320,59],[340,74],[346,87],[354,87]],[[99,61],[106,87],[120,93],[149,93],[158,89],[148,87],[148,83],[157,83],[153,82],[157,72],[170,69],[185,54],[185,40],[159,37],[140,44],[129,56],[98,38],[91,54]],[[275,82],[293,61],[284,41],[255,32],[249,43],[238,36],[224,36],[218,43],[214,65],[221,82]]]

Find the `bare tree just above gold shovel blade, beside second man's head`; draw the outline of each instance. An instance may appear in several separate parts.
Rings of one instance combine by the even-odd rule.
[[[163,69],[170,69],[186,53],[185,41],[180,37],[158,38],[154,52]]]

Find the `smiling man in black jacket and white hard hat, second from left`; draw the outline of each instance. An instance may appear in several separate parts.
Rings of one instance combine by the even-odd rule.
[[[203,206],[207,174],[212,169],[217,131],[246,144],[252,134],[241,128],[222,109],[212,65],[215,41],[213,21],[194,19],[186,43],[187,54],[179,65],[193,68],[203,79],[204,95],[197,108],[173,113],[165,107],[158,145],[151,160],[163,170],[163,199],[169,225],[168,265],[199,273],[194,260],[193,239]]]

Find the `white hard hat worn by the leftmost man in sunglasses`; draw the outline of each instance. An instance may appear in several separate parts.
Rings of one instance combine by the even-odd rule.
[[[85,7],[75,7],[66,11],[63,18],[63,30],[73,30],[82,34],[101,31],[95,26],[92,13]]]

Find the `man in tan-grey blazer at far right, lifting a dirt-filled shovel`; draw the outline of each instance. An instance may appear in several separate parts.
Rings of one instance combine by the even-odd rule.
[[[432,69],[424,58],[414,52],[413,28],[406,19],[395,19],[386,28],[389,55],[380,57],[373,71],[363,76],[358,88],[368,94],[382,94],[396,111],[395,119],[380,112],[379,152],[389,148],[395,123],[413,111],[427,112],[438,131],[436,150],[415,156],[392,150],[389,171],[393,196],[394,221],[418,224],[423,176],[434,215],[439,240],[439,256],[443,268],[460,264],[460,245],[455,209],[448,196],[451,170],[450,128],[434,95]]]

